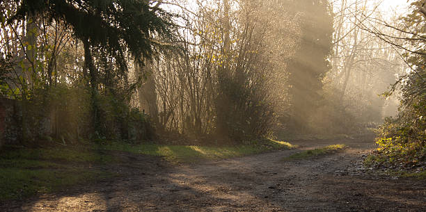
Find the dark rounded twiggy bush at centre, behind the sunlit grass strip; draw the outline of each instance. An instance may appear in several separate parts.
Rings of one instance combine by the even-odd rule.
[[[266,83],[248,81],[248,77],[246,81],[221,81],[216,99],[216,133],[242,141],[267,135],[275,124],[273,101],[264,88]]]

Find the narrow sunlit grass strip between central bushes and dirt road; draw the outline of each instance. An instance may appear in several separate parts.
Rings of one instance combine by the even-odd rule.
[[[135,154],[163,156],[171,162],[195,162],[199,159],[222,159],[236,156],[258,154],[269,150],[290,149],[293,146],[288,142],[278,140],[261,140],[247,145],[234,147],[203,147],[196,145],[157,145],[139,144],[131,145],[125,142],[109,142],[97,145],[95,148],[105,150],[119,150]]]

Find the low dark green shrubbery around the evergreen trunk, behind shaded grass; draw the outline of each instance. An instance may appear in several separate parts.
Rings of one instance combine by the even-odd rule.
[[[93,123],[90,92],[84,85],[58,84],[49,90],[31,92],[26,99],[15,99],[19,113],[13,123],[14,136],[23,142],[57,140],[69,143],[89,140],[145,140],[154,129],[149,117],[132,108],[123,97],[98,95],[100,127]],[[15,135],[16,134],[16,135]],[[13,142],[11,138],[6,138]]]

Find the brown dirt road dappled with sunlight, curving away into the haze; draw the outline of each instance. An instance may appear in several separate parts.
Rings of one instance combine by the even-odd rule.
[[[197,164],[120,154],[126,177],[10,202],[0,211],[426,211],[426,182],[357,171],[366,140],[295,141],[299,149]],[[301,149],[345,143],[345,151],[281,161]]]

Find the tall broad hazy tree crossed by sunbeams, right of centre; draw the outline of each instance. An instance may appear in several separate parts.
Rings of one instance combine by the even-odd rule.
[[[333,17],[328,1],[289,1],[290,11],[301,27],[301,40],[296,54],[287,67],[290,72],[290,127],[294,131],[308,131],[308,120],[322,90],[322,77],[329,70],[327,58],[331,54]]]

